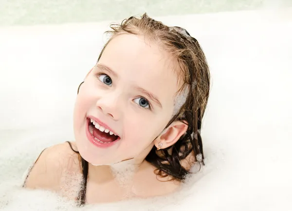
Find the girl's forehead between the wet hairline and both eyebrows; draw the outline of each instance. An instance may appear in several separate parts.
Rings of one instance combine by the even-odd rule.
[[[143,36],[114,37],[98,63],[110,67],[120,80],[136,83],[157,94],[172,97],[177,91],[171,56]]]

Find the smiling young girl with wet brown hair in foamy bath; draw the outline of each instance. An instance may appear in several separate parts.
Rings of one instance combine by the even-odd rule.
[[[198,41],[144,14],[111,25],[78,88],[75,142],[45,149],[24,187],[86,203],[176,191],[195,162],[210,73]]]

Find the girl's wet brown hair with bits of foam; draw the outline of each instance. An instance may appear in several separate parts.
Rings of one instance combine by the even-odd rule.
[[[183,93],[187,94],[165,128],[174,121],[186,122],[188,128],[175,144],[159,151],[153,146],[146,156],[146,161],[157,168],[155,173],[158,176],[171,176],[172,179],[181,181],[190,173],[183,167],[183,159],[193,156],[200,166],[204,165],[200,132],[209,98],[210,72],[201,46],[197,39],[185,29],[166,26],[148,17],[146,13],[139,18],[125,19],[121,24],[111,24],[110,28],[112,30],[106,32],[110,38],[103,47],[97,62],[110,41],[123,34],[143,35],[146,39],[156,42],[175,61],[173,71],[177,74],[179,87],[175,100],[178,100]]]

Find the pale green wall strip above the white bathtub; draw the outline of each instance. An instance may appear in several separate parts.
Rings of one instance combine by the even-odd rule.
[[[0,0],[0,25],[96,22],[292,6],[292,0]]]

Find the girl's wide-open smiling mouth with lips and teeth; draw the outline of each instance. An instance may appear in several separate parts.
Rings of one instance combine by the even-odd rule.
[[[121,139],[114,132],[101,126],[91,118],[86,118],[86,125],[86,136],[95,146],[103,148],[110,147]]]

